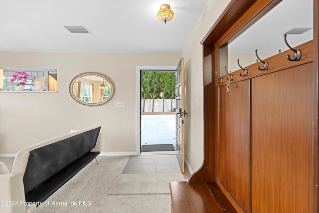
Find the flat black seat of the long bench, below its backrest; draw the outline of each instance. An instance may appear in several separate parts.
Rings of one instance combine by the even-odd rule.
[[[100,152],[88,152],[84,154],[80,159],[74,161],[50,179],[25,194],[25,201],[44,202],[99,154]]]

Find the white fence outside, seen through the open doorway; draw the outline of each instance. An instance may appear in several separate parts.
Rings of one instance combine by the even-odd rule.
[[[152,112],[153,99],[145,100],[145,110],[143,110],[144,99],[141,100],[141,112]],[[173,99],[172,110],[175,108],[175,99]],[[154,112],[163,111],[163,99],[154,100]],[[171,99],[164,99],[164,112],[171,112]]]

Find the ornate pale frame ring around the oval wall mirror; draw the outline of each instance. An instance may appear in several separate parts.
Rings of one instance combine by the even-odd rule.
[[[80,79],[81,77],[84,77],[84,76],[87,76],[87,75],[94,75],[94,76],[99,76],[103,79],[105,79],[111,86],[111,93],[109,94],[109,96],[104,99],[103,101],[100,101],[100,102],[97,102],[97,103],[87,103],[87,102],[84,102],[84,101],[81,101],[80,99],[78,99],[74,93],[73,93],[73,85],[75,84],[75,82]],[[70,92],[70,95],[71,97],[78,103],[80,104],[83,104],[85,106],[101,106],[107,102],[109,102],[111,100],[111,98],[113,97],[114,95],[114,92],[115,92],[115,86],[114,86],[114,83],[113,81],[108,77],[106,76],[105,74],[102,74],[102,73],[98,73],[98,72],[84,72],[84,73],[81,73],[77,76],[75,76],[71,82],[70,82],[70,85],[69,85],[69,92]]]

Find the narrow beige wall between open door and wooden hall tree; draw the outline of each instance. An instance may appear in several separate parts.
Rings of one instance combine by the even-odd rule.
[[[226,8],[230,0],[208,0],[181,55],[184,57],[186,106],[185,157],[191,172],[203,162],[203,66],[200,42]],[[197,104],[198,103],[198,104]]]

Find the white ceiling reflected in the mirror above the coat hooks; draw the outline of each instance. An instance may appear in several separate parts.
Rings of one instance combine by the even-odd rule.
[[[284,34],[295,27],[313,28],[314,0],[283,0],[228,45],[229,52],[273,53],[287,50]],[[313,29],[303,34],[288,34],[295,47],[313,39]]]

